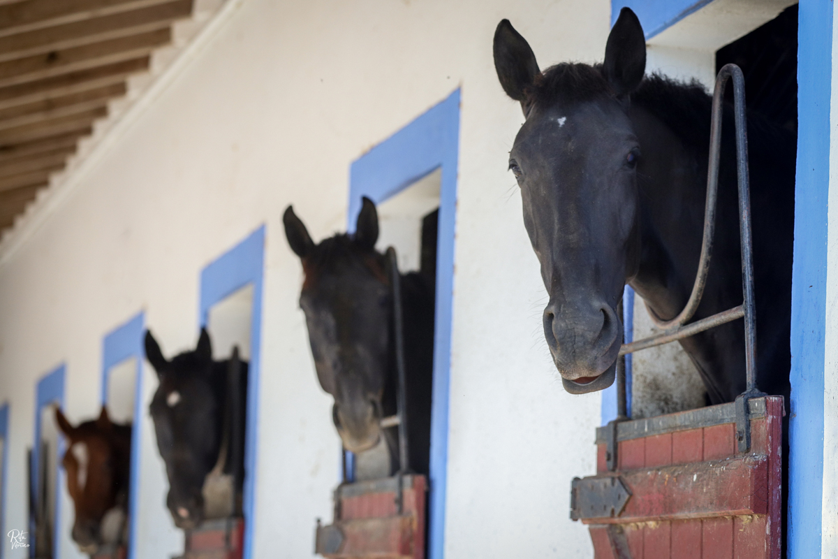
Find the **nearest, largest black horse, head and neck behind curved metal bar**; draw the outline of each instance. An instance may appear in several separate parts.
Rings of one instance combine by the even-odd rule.
[[[510,152],[524,223],[550,302],[544,332],[564,386],[574,393],[613,382],[623,325],[623,286],[649,312],[674,318],[690,296],[701,251],[711,97],[697,83],[644,78],[643,29],[623,8],[603,65],[541,72],[509,21],[494,35],[504,91],[525,123]],[[747,116],[753,210],[758,387],[789,396],[794,136]],[[693,320],[742,303],[732,110],[722,132],[715,248]],[[712,403],[745,389],[741,321],[680,342]]]

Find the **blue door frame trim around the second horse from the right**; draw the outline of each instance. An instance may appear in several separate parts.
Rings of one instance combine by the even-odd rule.
[[[376,204],[442,169],[437,230],[437,303],[433,346],[428,559],[442,559],[448,461],[448,385],[454,279],[454,227],[460,128],[460,90],[372,148],[349,169],[347,230],[354,230],[361,196]]]

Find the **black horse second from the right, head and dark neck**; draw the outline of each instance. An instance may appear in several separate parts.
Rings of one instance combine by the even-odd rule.
[[[346,450],[364,453],[384,440],[389,473],[411,468],[428,473],[435,251],[423,250],[419,272],[400,273],[405,355],[409,464],[401,464],[396,428],[382,428],[396,413],[396,354],[391,268],[375,250],[379,224],[375,204],[363,199],[354,235],[337,234],[315,245],[292,206],[282,217],[305,279],[300,307],[305,313],[314,368],[323,391],[334,397],[332,419]],[[436,228],[423,225],[423,237]],[[433,242],[432,244],[436,244]]]

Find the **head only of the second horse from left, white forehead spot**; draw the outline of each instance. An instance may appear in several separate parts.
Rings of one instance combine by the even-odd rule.
[[[172,360],[163,357],[149,331],[145,349],[160,382],[149,411],[166,463],[166,505],[178,528],[191,529],[204,520],[204,480],[219,458],[224,383],[206,329],[193,351]]]

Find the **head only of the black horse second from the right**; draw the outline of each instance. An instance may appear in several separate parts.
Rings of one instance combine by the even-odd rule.
[[[291,206],[283,221],[288,244],[303,261],[300,307],[320,386],[334,396],[334,426],[344,448],[368,450],[381,436],[392,360],[391,282],[385,256],[375,251],[375,204],[364,199],[354,235],[318,245]]]

